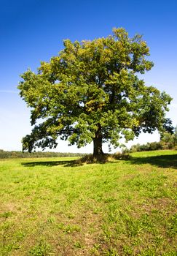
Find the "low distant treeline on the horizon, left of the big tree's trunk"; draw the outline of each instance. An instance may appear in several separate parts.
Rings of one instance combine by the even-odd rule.
[[[33,158],[33,157],[84,157],[81,153],[58,153],[58,152],[22,152],[22,151],[4,151],[0,149],[0,159],[3,158]]]

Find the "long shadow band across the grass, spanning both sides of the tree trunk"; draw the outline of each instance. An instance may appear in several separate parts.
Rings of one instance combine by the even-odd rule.
[[[152,157],[131,157],[129,155],[113,155],[110,158],[109,154],[105,154],[99,159],[95,159],[92,156],[82,157],[76,160],[61,160],[61,161],[36,161],[36,162],[23,162],[22,165],[26,167],[34,167],[34,166],[57,166],[63,165],[64,167],[76,167],[82,166],[84,164],[105,164],[106,162],[115,163],[115,160],[124,160],[125,162],[131,165],[155,165],[157,167],[163,168],[173,168],[177,169],[177,154],[173,155],[160,155],[160,156],[152,156]]]

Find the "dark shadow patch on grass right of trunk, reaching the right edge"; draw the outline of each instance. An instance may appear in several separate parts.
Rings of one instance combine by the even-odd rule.
[[[133,165],[155,165],[162,168],[177,169],[177,154],[173,155],[160,155],[152,157],[132,157],[128,160]]]

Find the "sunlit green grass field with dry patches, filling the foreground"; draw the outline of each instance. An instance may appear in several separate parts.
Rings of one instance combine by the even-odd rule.
[[[176,255],[177,151],[75,159],[0,161],[0,255]]]

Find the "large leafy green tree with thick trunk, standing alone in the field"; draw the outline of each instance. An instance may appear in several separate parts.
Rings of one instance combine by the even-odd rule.
[[[93,154],[99,155],[103,142],[117,147],[121,138],[168,129],[170,96],[138,78],[154,65],[141,35],[130,38],[120,28],[106,38],[66,39],[63,45],[37,73],[28,69],[21,75],[18,89],[33,126],[23,150],[56,147],[60,138],[78,147],[93,141]]]

